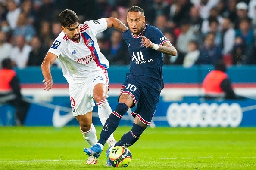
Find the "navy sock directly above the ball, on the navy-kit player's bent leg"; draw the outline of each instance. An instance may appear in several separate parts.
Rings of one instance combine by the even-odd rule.
[[[126,134],[124,134],[121,140],[119,140],[115,144],[115,146],[121,145],[121,146],[129,147],[133,145],[135,142],[137,142],[137,140],[139,140],[140,135],[143,133],[145,129],[146,128],[133,123],[131,131],[128,131]]]

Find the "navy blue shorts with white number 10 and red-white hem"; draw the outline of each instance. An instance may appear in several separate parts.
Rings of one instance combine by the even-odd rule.
[[[156,112],[160,93],[161,91],[152,90],[152,87],[148,86],[147,82],[142,82],[137,77],[129,75],[122,84],[120,95],[130,94],[134,100],[134,106],[137,104],[137,108],[131,115],[137,116],[144,124],[150,125]]]

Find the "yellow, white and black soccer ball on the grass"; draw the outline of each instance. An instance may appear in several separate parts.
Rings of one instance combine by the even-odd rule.
[[[115,146],[109,153],[113,167],[127,167],[131,162],[131,152],[125,146]]]

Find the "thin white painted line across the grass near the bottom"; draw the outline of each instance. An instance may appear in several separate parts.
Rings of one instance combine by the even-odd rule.
[[[214,158],[212,156],[209,157],[197,157],[197,158],[160,158],[159,160],[171,160],[171,159],[209,159]],[[244,156],[244,157],[218,157],[219,159],[226,158],[256,158],[256,156]],[[133,159],[140,160],[140,159]],[[84,159],[69,159],[69,160],[61,160],[61,159],[47,159],[47,160],[28,160],[28,161],[0,161],[0,162],[50,162],[50,161],[84,161]]]

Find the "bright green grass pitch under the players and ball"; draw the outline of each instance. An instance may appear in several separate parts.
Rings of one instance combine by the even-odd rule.
[[[101,127],[97,127],[99,136]],[[115,132],[117,140],[130,127]],[[0,170],[102,170],[86,165],[79,127],[0,127]],[[127,170],[256,170],[256,128],[147,128],[133,146]]]

